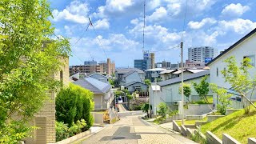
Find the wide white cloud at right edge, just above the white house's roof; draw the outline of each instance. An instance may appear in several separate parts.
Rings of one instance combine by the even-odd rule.
[[[256,22],[252,22],[249,19],[234,19],[231,21],[220,21],[218,22],[218,31],[222,34],[226,34],[227,31],[234,31],[238,34],[246,34],[250,30],[256,27]]]

